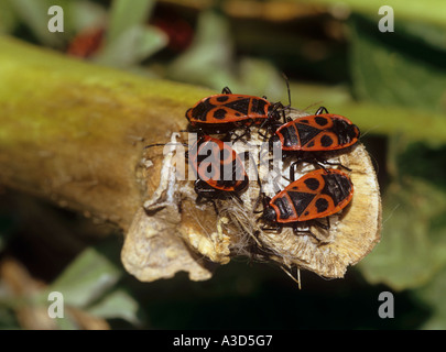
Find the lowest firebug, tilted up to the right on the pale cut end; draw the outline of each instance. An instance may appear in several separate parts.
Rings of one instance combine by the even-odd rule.
[[[275,228],[263,230],[282,230],[291,226],[295,233],[309,232],[298,230],[305,222],[328,230],[328,217],[342,210],[351,201],[353,186],[349,176],[339,169],[316,169],[292,182],[272,199],[265,197],[263,220]],[[317,219],[327,218],[324,224]]]

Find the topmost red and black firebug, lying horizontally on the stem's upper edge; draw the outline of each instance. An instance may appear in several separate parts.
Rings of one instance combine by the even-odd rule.
[[[228,87],[220,95],[199,100],[186,111],[186,118],[191,130],[207,133],[222,133],[253,124],[265,128],[281,118],[286,121],[281,102],[270,102],[265,97],[235,95]]]

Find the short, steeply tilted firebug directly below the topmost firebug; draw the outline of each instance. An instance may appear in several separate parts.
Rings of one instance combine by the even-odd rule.
[[[189,165],[196,176],[195,191],[200,198],[235,197],[249,185],[241,157],[227,143],[209,135],[199,138],[187,152]]]

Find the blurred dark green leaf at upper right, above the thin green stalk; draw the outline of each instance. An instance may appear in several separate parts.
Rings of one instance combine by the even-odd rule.
[[[381,33],[377,21],[352,15],[351,73],[361,100],[445,112],[444,29],[398,21],[394,33]],[[426,36],[433,36],[427,42]],[[401,121],[402,122],[402,121]]]

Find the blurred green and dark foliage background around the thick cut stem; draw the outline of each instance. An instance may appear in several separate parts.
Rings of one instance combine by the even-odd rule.
[[[445,329],[446,3],[312,1],[325,11],[283,22],[231,18],[225,1],[215,3],[187,10],[187,1],[184,8],[148,0],[2,1],[0,33],[64,51],[83,30],[106,28],[102,46],[89,58],[96,64],[271,100],[287,100],[285,72],[294,107],[325,105],[361,128],[382,189],[381,243],[345,280],[304,273],[297,292],[276,268],[237,261],[207,283],[184,275],[137,283],[120,266],[115,241],[115,248],[87,246],[47,289],[131,328]],[[50,4],[63,7],[64,33],[46,30]],[[394,33],[378,30],[383,4],[394,9]],[[172,37],[155,25],[159,18],[172,26],[188,22],[189,45],[172,51]],[[0,219],[0,251],[8,249],[10,222]],[[18,328],[18,302],[2,288],[0,283],[0,328]],[[384,289],[395,294],[393,320],[377,314]],[[62,327],[76,328],[69,321]]]

